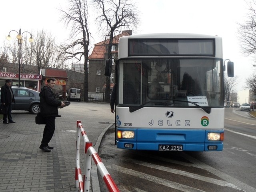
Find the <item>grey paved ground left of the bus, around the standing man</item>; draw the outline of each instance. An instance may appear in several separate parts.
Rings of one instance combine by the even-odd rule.
[[[76,121],[96,151],[101,138],[114,123],[114,114],[106,103],[71,102],[59,109],[56,129],[49,143],[54,149],[39,149],[44,125],[35,124],[35,115],[13,111],[14,124],[0,120],[0,192],[78,192],[75,187]],[[81,139],[80,152],[84,149]],[[84,154],[80,154],[83,172]],[[92,161],[90,192],[99,192],[97,168]]]

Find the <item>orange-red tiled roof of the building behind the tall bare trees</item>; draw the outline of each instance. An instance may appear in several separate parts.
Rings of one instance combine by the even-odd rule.
[[[114,36],[113,44],[118,44],[120,37],[129,36],[129,35],[132,35],[132,30],[122,31],[121,34]],[[109,43],[109,39],[94,44],[94,49],[92,51],[92,54],[89,56],[89,59],[104,59],[105,53],[107,52],[106,44],[108,43]],[[114,52],[118,52],[118,51],[114,51]]]

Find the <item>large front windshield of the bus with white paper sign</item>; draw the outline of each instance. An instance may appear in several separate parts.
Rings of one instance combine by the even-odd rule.
[[[222,59],[129,59],[118,62],[124,106],[218,108],[223,105]]]

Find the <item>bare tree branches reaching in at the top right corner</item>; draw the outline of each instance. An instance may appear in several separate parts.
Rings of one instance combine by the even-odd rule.
[[[246,55],[256,55],[256,0],[248,1],[247,20],[239,24],[238,38]]]

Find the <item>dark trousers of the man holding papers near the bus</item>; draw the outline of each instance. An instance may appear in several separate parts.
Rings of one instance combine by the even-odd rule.
[[[48,146],[48,143],[52,139],[55,130],[55,117],[44,117],[45,118],[45,127],[44,134],[42,139],[41,147]]]

